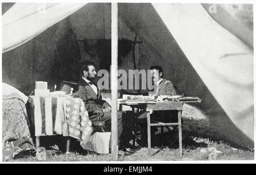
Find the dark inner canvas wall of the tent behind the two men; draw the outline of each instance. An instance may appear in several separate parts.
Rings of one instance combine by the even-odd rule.
[[[2,14],[13,5],[3,3]],[[86,60],[93,61],[97,70],[110,71],[110,3],[89,3],[34,39],[3,53],[2,80],[25,95],[34,91],[36,81],[48,82],[53,91],[63,80],[78,82],[77,67]],[[214,99],[151,3],[118,3],[118,69],[147,70],[152,65],[163,67],[164,77],[175,84],[177,93],[203,99],[195,108],[207,111],[222,133],[232,132],[228,140],[253,146]]]

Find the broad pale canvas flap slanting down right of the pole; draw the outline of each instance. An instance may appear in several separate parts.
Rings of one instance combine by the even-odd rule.
[[[200,4],[153,4],[231,121],[254,140],[253,52]]]

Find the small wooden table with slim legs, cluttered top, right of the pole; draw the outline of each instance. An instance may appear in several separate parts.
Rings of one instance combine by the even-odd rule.
[[[151,126],[174,126],[179,127],[179,150],[182,156],[182,132],[181,132],[181,112],[183,110],[183,103],[180,101],[147,101],[147,100],[118,100],[120,105],[128,105],[133,108],[144,109],[147,112],[147,142],[148,142],[148,155],[151,155]],[[154,110],[177,110],[178,122],[177,123],[151,123],[150,114]]]

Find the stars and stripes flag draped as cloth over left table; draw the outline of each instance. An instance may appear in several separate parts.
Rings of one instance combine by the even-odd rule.
[[[67,122],[69,136],[79,139],[82,144],[88,143],[93,127],[81,99],[31,96],[28,101],[35,136],[63,134],[63,125]]]

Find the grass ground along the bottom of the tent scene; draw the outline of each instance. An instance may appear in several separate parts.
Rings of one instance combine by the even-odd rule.
[[[151,157],[147,157],[146,145],[137,147],[134,153],[119,155],[118,161],[176,161],[176,160],[253,160],[254,151],[246,150],[229,143],[216,129],[209,125],[208,119],[184,118],[183,156],[179,155],[177,132],[165,133],[163,143],[159,146],[159,136],[152,142]],[[221,151],[213,156],[211,151]],[[72,148],[69,154],[60,150],[48,149],[46,161],[111,161],[111,154],[99,155],[94,152]],[[10,161],[38,161],[35,156],[26,156]]]

